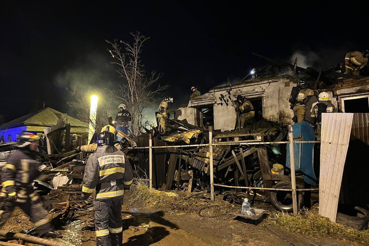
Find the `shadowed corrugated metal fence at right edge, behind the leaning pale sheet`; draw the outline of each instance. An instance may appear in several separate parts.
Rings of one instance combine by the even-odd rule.
[[[369,113],[354,113],[339,203],[368,209]]]

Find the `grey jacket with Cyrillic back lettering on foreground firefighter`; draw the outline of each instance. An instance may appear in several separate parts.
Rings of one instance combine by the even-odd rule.
[[[88,197],[96,189],[97,200],[123,198],[132,180],[132,167],[125,154],[114,146],[100,146],[87,160],[82,193]]]

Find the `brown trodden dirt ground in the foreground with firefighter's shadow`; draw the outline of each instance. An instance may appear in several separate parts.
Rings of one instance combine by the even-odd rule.
[[[216,218],[203,218],[197,213],[184,213],[183,211],[168,211],[160,207],[145,208],[144,205],[133,203],[130,192],[125,192],[125,205],[122,207],[123,219],[123,245],[124,246],[206,246],[206,245],[248,245],[248,246],[291,246],[292,244],[266,228],[268,221],[249,222],[233,215],[223,215]],[[255,208],[272,210],[269,204],[256,201]],[[235,212],[238,208],[235,208]],[[27,216],[20,211],[4,226],[4,229],[18,230],[31,228]],[[63,238],[58,242],[75,246],[96,245],[94,232],[81,232],[85,226],[86,216],[80,217],[68,225],[58,228]],[[20,225],[19,222],[25,223]],[[134,232],[128,226],[149,225],[149,229]],[[292,235],[292,233],[290,233]],[[354,245],[344,240],[332,238],[313,238],[311,236],[294,233],[294,240],[300,246],[347,246]],[[299,246],[296,244],[296,246]]]

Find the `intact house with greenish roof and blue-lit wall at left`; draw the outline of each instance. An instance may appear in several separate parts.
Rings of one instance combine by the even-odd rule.
[[[54,126],[59,119],[64,119],[70,124],[70,133],[88,135],[88,125],[65,113],[61,113],[50,107],[11,120],[0,126],[0,135],[4,142],[15,141],[21,132],[31,132],[41,135],[45,128]]]

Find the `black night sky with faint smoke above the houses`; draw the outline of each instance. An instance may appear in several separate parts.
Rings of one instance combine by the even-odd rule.
[[[297,52],[303,55],[299,66],[323,68],[344,62],[346,52],[369,48],[359,5],[351,18],[336,2],[91,3],[1,3],[0,114],[7,120],[30,113],[36,101],[73,115],[66,87],[122,83],[104,40],[131,41],[130,32],[151,37],[142,62],[146,71],[163,73],[160,82],[171,86],[162,96],[173,96],[174,106],[188,101],[193,85],[204,93],[266,64],[251,52],[286,62]]]

